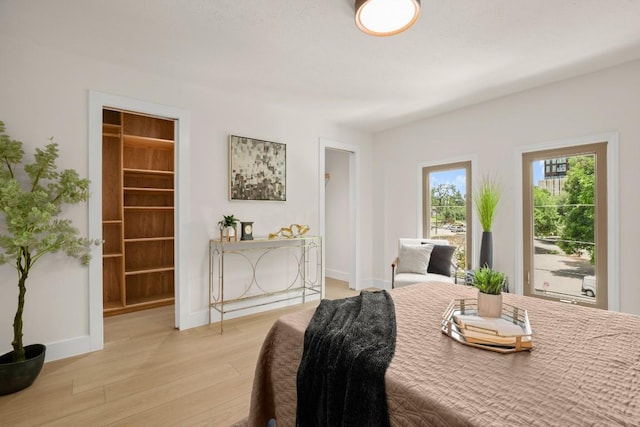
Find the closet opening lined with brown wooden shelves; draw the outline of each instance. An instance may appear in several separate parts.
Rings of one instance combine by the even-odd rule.
[[[174,303],[175,120],[102,110],[104,316]]]

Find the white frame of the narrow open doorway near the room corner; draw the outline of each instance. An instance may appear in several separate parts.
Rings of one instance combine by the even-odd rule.
[[[322,259],[325,259],[325,155],[327,149],[344,151],[349,154],[349,241],[351,247],[351,261],[349,267],[349,288],[362,289],[364,286],[360,283],[360,230],[356,218],[358,218],[358,176],[360,171],[360,155],[359,148],[351,144],[343,144],[341,142],[320,138],[318,152],[318,194],[319,194],[319,224],[320,236],[322,237]],[[324,267],[322,272],[324,279]],[[323,280],[324,284],[324,280]],[[324,298],[324,286],[322,287],[322,297]]]

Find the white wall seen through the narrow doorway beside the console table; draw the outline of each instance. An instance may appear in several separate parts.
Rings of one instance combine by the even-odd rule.
[[[327,277],[349,281],[349,153],[326,150],[325,171],[325,273]]]

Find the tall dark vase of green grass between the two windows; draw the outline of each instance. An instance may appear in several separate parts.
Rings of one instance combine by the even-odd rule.
[[[500,202],[502,189],[500,185],[488,176],[480,182],[473,197],[476,212],[482,225],[482,243],[480,244],[480,267],[493,267],[493,236],[491,227],[496,216],[496,209]]]

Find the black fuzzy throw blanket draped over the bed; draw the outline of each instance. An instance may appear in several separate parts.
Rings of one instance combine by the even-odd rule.
[[[389,426],[384,375],[395,348],[386,291],[322,300],[304,334],[297,426]]]

